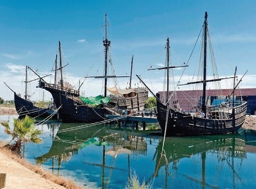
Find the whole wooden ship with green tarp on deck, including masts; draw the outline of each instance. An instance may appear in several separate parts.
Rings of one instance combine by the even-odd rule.
[[[104,96],[96,96],[95,98],[86,98],[80,96],[79,89],[65,86],[63,82],[62,63],[61,63],[61,45],[59,42],[60,53],[60,68],[57,68],[57,61],[55,61],[55,70],[60,70],[61,80],[59,83],[49,84],[43,79],[40,79],[40,88],[46,89],[51,93],[56,107],[60,107],[58,114],[63,122],[97,122],[105,119],[105,114],[120,114],[122,110],[136,110],[141,111],[144,108],[145,101],[148,99],[148,89],[145,87],[119,89],[112,87],[107,89],[108,78],[119,78],[129,76],[107,75],[108,68],[108,48],[110,41],[107,39],[107,14],[105,15],[105,40],[103,45],[105,47],[105,75],[94,76],[90,78],[104,78]],[[133,61],[132,61],[133,63]],[[56,75],[56,71],[55,71]],[[55,76],[56,78],[56,76]],[[89,77],[87,77],[89,78]],[[112,96],[107,96],[107,90],[113,93]]]

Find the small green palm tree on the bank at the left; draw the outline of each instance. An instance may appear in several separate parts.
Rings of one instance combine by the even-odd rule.
[[[12,136],[14,144],[11,146],[11,150],[20,154],[22,143],[42,143],[42,139],[39,138],[42,132],[36,128],[35,119],[30,118],[28,115],[23,119],[13,118],[14,128],[11,130],[8,121],[1,121],[1,125],[5,127],[4,132]]]

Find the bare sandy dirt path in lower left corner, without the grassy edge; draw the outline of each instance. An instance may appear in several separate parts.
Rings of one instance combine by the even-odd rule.
[[[65,189],[61,185],[42,178],[1,152],[0,171],[6,173],[7,189]]]

